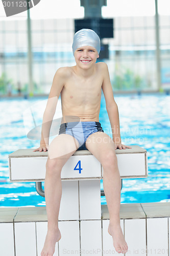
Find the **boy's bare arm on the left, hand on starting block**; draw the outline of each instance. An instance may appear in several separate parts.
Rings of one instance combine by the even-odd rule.
[[[53,117],[56,112],[56,106],[57,106],[58,98],[60,96],[60,92],[64,87],[64,82],[65,82],[64,73],[65,73],[64,68],[60,68],[57,70],[53,78],[52,87],[50,90],[50,94],[48,96],[46,108],[45,108],[43,119],[42,119],[40,146],[36,148],[34,151],[41,152],[41,151],[48,150],[50,129],[51,129]]]

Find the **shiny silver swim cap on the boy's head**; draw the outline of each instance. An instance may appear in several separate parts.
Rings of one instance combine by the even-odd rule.
[[[100,53],[101,43],[98,34],[91,29],[81,29],[77,31],[72,42],[73,54],[76,49],[82,46],[92,46]]]

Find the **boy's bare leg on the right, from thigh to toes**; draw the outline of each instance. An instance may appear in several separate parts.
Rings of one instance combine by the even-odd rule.
[[[110,216],[108,231],[113,237],[113,245],[116,251],[124,253],[128,246],[120,227],[121,182],[114,142],[107,134],[96,132],[87,138],[86,148],[103,166],[103,186]]]

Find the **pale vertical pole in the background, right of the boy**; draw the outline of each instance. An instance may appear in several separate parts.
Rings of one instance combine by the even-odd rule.
[[[160,41],[159,41],[159,15],[158,0],[155,0],[155,28],[156,28],[156,60],[157,60],[157,87],[161,88],[161,61],[160,61]]]

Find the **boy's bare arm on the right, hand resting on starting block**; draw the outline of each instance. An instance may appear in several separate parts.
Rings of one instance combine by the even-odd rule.
[[[112,138],[115,144],[115,149],[116,148],[125,149],[126,147],[131,148],[130,146],[123,145],[120,138],[118,108],[114,100],[113,90],[112,90],[110,77],[109,77],[109,71],[106,63],[103,63],[103,71],[104,71],[104,79],[102,84],[102,90],[105,96],[106,110],[110,120],[110,125],[112,129]]]

